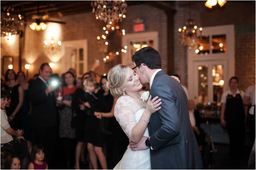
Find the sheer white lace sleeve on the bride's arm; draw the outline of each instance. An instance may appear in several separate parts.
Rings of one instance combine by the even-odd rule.
[[[114,109],[116,120],[131,141],[133,141],[131,131],[136,125],[136,109],[133,103],[133,100],[129,99],[129,97],[121,96],[116,102]]]

